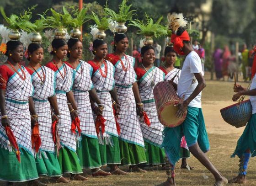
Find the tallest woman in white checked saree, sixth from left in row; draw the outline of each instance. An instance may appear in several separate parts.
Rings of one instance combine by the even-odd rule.
[[[135,59],[125,54],[128,48],[128,37],[125,34],[116,34],[115,53],[108,54],[108,60],[115,66],[115,85],[120,102],[119,144],[122,165],[131,165],[130,170],[141,171],[138,166],[147,162],[144,150],[144,140],[140,128],[139,118],[136,113],[136,102],[140,103],[139,88],[136,83],[136,74],[133,69]],[[137,105],[140,116],[143,107]]]

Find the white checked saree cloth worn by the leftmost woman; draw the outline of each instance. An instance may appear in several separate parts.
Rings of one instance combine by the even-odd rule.
[[[8,79],[5,93],[5,108],[11,130],[16,137],[19,147],[33,155],[31,118],[28,107],[28,98],[33,94],[33,86],[30,74],[23,66],[21,68],[26,74],[26,79],[21,80],[17,73],[14,73]],[[20,69],[18,72],[22,74]],[[5,128],[2,125],[0,125],[0,143],[5,149],[8,149],[10,152],[12,151]]]

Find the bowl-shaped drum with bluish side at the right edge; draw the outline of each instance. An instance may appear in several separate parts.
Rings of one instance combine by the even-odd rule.
[[[246,125],[251,118],[252,106],[250,100],[241,101],[220,110],[225,122],[236,128]]]

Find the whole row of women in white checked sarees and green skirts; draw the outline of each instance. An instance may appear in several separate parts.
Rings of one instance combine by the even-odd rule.
[[[31,43],[24,67],[22,43],[7,43],[8,59],[0,66],[0,180],[7,185],[28,181],[43,186],[39,175],[69,183],[62,175],[70,173],[70,180],[84,181],[88,179],[81,175],[84,168],[91,169],[92,176],[107,176],[128,174],[119,165],[137,172],[145,172],[144,165],[164,167],[164,128],[153,88],[172,78],[178,82],[173,48],[165,48],[165,65],[156,68],[154,48],[144,46],[142,63],[135,69],[134,58],[125,54],[125,34],[116,34],[111,54],[104,40],[94,40],[95,58],[87,62],[81,59],[79,38],[54,38],[52,48],[52,60],[42,66],[44,50]],[[37,124],[41,143],[35,151],[31,135]],[[6,126],[14,133],[21,162],[6,137]],[[190,154],[186,144],[183,147],[181,166],[186,168]],[[101,170],[104,165],[110,172]]]

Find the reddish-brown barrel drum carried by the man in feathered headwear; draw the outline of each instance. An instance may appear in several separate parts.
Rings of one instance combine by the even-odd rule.
[[[176,118],[175,114],[180,98],[177,96],[173,86],[168,81],[162,81],[154,87],[155,105],[158,119],[165,127],[176,127],[180,125],[187,116],[185,111],[181,118]]]

